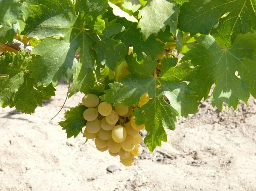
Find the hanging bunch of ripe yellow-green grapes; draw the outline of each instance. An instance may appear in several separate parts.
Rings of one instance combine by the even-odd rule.
[[[149,101],[149,94],[145,92],[137,106],[141,107]],[[87,139],[95,139],[96,149],[107,151],[113,157],[119,155],[121,163],[127,167],[134,164],[134,156],[140,156],[142,137],[140,130],[145,125],[136,125],[133,110],[136,107],[116,105],[102,101],[94,94],[86,94],[82,99],[83,105],[88,109],[83,112],[87,120],[84,135]]]

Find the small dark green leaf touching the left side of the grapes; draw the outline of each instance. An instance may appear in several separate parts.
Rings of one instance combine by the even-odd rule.
[[[60,121],[59,125],[62,127],[62,130],[66,130],[67,138],[77,135],[80,133],[83,127],[85,127],[86,120],[83,118],[83,112],[87,108],[79,104],[75,108],[70,108],[70,111],[65,112],[65,121]]]

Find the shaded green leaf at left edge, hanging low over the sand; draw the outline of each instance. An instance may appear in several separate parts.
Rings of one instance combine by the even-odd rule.
[[[55,96],[52,84],[47,87],[35,85],[30,78],[27,65],[31,62],[28,52],[19,50],[18,55],[6,52],[0,57],[0,105],[16,107],[22,113],[34,113],[37,105],[42,107],[43,100]]]

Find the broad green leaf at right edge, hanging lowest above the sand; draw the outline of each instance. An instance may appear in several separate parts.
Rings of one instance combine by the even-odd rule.
[[[238,35],[230,48],[219,48],[210,35],[194,36],[199,44],[189,44],[190,49],[182,61],[191,60],[200,66],[197,75],[189,83],[198,96],[197,101],[206,99],[212,85],[212,104],[222,111],[222,103],[237,108],[241,101],[247,103],[250,93],[256,97],[256,34]],[[236,76],[236,72],[240,77]]]

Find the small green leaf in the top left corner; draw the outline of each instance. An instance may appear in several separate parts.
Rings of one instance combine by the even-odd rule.
[[[17,20],[22,20],[25,6],[23,0],[0,0],[0,22],[11,27]]]

